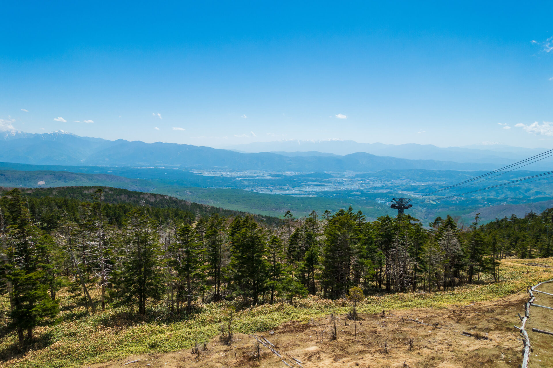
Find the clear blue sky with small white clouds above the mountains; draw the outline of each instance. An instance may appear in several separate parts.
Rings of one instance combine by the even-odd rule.
[[[0,125],[553,148],[553,3],[381,3],[4,1]]]

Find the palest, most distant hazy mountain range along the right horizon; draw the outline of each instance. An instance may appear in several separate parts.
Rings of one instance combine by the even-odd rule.
[[[404,145],[385,145],[384,143],[358,143],[355,141],[321,140],[302,141],[286,140],[273,142],[254,142],[245,145],[226,147],[238,152],[287,152],[288,156],[302,156],[309,152],[316,154],[346,155],[356,152],[366,152],[377,156],[391,156],[408,159],[434,159],[439,161],[453,161],[463,163],[493,163],[501,166],[520,161],[547,151],[547,148],[523,148],[506,145],[472,145],[466,147],[441,148],[434,145],[418,145],[409,143]],[[315,153],[315,152],[317,153]],[[291,153],[294,153],[291,154]],[[529,169],[551,169],[553,158],[533,164]]]

